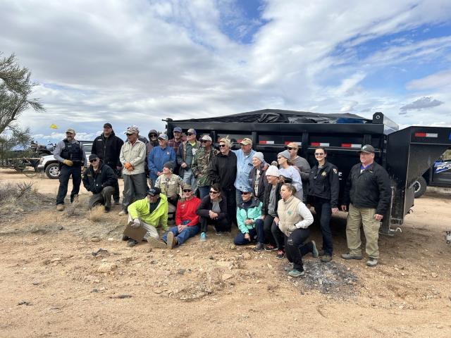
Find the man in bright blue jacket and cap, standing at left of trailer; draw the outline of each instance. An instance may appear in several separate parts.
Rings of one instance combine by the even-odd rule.
[[[168,146],[166,134],[159,134],[159,146],[155,146],[147,156],[147,166],[149,167],[149,178],[152,186],[155,185],[157,177],[163,173],[163,164],[166,162],[175,163],[175,153],[171,146]]]

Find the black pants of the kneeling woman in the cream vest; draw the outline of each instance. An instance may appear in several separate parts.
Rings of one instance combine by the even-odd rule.
[[[304,271],[302,256],[313,251],[311,242],[304,244],[309,235],[310,231],[308,229],[296,229],[290,234],[290,237],[285,236],[285,253],[288,261],[293,263],[295,270]]]

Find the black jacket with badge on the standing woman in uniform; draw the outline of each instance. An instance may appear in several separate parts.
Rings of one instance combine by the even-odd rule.
[[[311,204],[313,197],[316,196],[330,200],[331,208],[338,208],[338,194],[340,194],[340,180],[338,168],[335,165],[326,161],[319,173],[318,164],[311,168],[307,203]]]

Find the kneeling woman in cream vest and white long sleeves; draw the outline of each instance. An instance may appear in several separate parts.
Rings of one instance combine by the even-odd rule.
[[[278,201],[277,213],[279,217],[278,227],[285,234],[285,253],[288,261],[293,263],[293,268],[288,272],[291,277],[304,275],[302,256],[311,253],[318,257],[315,242],[304,244],[309,238],[309,225],[313,223],[313,215],[296,196],[295,187],[285,183],[280,188],[282,199]]]

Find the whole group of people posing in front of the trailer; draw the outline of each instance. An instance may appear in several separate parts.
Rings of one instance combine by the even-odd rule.
[[[125,131],[127,140],[117,137],[111,124],[94,140],[90,166],[75,131],[68,129],[66,139],[56,146],[54,156],[61,163],[60,187],[56,199],[58,210],[64,208],[69,176],[73,177],[73,202],[80,181],[92,192],[89,207],[103,205],[111,210],[111,199],[119,204],[118,170],[124,182],[122,210],[128,214],[123,239],[135,246],[144,239],[154,248],[183,244],[199,234],[207,240],[208,226],[216,235],[238,228],[236,245],[254,243],[254,251],[277,251],[276,258],[288,258],[288,274],[304,274],[302,256],[321,256],[331,261],[333,239],[330,218],[338,213],[340,192],[338,168],[327,161],[323,147],[315,149],[316,163],[298,156],[298,144],[292,142],[277,155],[277,163],[265,161],[264,154],[252,149],[252,139],[242,139],[240,149],[233,150],[230,139],[218,142],[209,135],[197,140],[190,128],[186,139],[175,127],[173,138],[151,130],[149,141],[140,136],[136,126]],[[388,173],[374,161],[375,149],[367,144],[359,152],[360,163],[352,167],[342,196],[342,211],[347,217],[348,253],[345,259],[362,259],[360,227],[366,236],[366,265],[378,263],[378,229],[390,203]],[[82,177],[82,178],[81,178]],[[78,186],[77,186],[78,184]],[[148,185],[149,184],[149,185]],[[314,208],[322,233],[322,249],[309,241],[309,225],[314,222]],[[168,227],[168,225],[172,226]],[[161,227],[163,235],[156,230]]]

